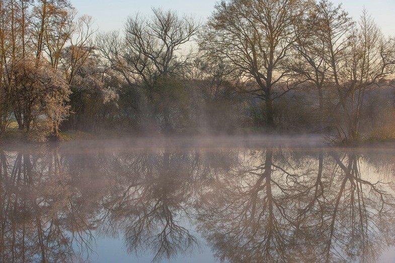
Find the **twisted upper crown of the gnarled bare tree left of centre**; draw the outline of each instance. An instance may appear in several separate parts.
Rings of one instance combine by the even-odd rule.
[[[139,14],[129,17],[125,25],[126,61],[133,65],[146,86],[154,77],[174,75],[188,62],[185,46],[196,34],[199,24],[176,12],[152,9],[151,19]]]

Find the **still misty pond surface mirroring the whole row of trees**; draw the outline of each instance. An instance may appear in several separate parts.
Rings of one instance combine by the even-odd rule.
[[[395,243],[390,156],[0,151],[0,261],[85,261],[108,236],[153,261],[376,261]]]

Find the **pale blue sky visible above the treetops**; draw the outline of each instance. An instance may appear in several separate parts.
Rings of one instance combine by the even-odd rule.
[[[71,0],[80,12],[95,19],[100,31],[121,29],[125,19],[136,12],[150,14],[151,7],[174,9],[179,13],[192,14],[204,20],[215,5],[216,0]],[[384,34],[395,36],[395,0],[333,0],[343,3],[349,14],[358,19],[363,7],[374,17]]]

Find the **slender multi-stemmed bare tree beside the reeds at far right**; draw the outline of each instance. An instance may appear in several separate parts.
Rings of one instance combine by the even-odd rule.
[[[382,36],[366,11],[356,26],[341,6],[327,0],[316,9],[318,36],[325,42],[322,55],[329,65],[325,85],[336,94],[333,112],[340,108],[344,115],[336,123],[338,137],[353,142],[359,139],[365,92],[393,73],[394,43]]]

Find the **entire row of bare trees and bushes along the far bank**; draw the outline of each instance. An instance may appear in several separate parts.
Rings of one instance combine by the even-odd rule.
[[[0,134],[321,131],[393,136],[395,40],[327,0],[152,9],[103,33],[66,0],[2,0]]]

